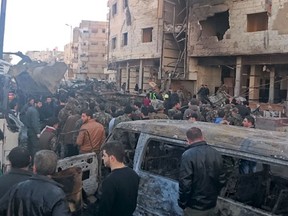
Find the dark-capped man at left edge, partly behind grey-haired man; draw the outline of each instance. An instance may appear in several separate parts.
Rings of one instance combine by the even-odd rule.
[[[11,170],[0,177],[0,197],[3,197],[13,185],[29,179],[33,174],[28,171],[31,157],[25,148],[13,148],[8,155],[8,160],[11,163]]]

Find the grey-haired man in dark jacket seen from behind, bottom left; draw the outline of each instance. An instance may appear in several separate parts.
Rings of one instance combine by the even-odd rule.
[[[56,166],[57,155],[53,151],[38,151],[33,166],[37,175],[19,183],[9,192],[7,215],[70,215],[61,185],[51,179]]]

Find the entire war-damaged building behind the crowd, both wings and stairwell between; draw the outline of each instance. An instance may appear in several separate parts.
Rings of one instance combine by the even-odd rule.
[[[120,85],[195,94],[225,84],[251,101],[286,100],[287,0],[109,0],[109,69]]]

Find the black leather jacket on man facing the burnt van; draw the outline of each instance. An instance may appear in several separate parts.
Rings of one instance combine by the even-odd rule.
[[[189,196],[187,206],[198,210],[215,207],[217,196],[225,183],[221,155],[206,142],[192,144],[182,155],[180,182],[185,184],[186,178],[192,178],[192,184],[180,188],[192,186],[191,193],[180,191],[180,194]]]

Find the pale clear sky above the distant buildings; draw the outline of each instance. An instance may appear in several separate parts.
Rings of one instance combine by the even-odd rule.
[[[70,42],[67,25],[105,21],[107,13],[107,0],[7,0],[4,52],[63,51]]]

